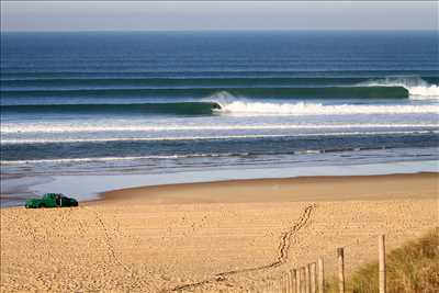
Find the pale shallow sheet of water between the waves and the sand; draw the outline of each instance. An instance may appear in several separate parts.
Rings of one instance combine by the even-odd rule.
[[[80,202],[100,201],[102,194],[115,190],[170,184],[221,182],[229,180],[264,180],[303,177],[359,177],[382,174],[412,174],[438,172],[437,160],[398,161],[381,164],[327,165],[327,166],[281,166],[278,168],[225,168],[194,169],[166,173],[114,173],[114,174],[47,174],[24,176],[2,180],[1,207],[20,206],[32,194],[47,192],[64,193]],[[14,194],[13,190],[21,190]]]

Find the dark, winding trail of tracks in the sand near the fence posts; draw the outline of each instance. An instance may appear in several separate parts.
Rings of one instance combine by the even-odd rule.
[[[219,272],[219,273],[214,274],[211,279],[206,279],[206,280],[203,280],[200,282],[195,282],[195,283],[178,285],[170,290],[164,290],[162,292],[179,292],[179,291],[184,291],[184,290],[192,290],[194,288],[202,286],[205,284],[225,281],[228,275],[245,273],[245,272],[252,272],[252,271],[269,270],[269,269],[273,269],[273,268],[281,266],[289,258],[289,250],[291,247],[292,238],[295,236],[296,233],[299,233],[308,223],[311,214],[316,207],[317,207],[316,204],[307,205],[305,207],[305,210],[302,212],[299,219],[294,223],[294,225],[290,226],[288,228],[288,230],[285,230],[281,234],[281,237],[280,237],[281,241],[279,244],[277,258],[273,262],[270,262],[270,263],[263,264],[263,266],[259,266],[259,267],[254,267],[254,268],[246,268],[246,269]]]

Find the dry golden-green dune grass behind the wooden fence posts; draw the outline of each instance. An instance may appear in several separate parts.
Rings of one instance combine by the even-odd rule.
[[[378,271],[378,262],[358,269],[346,282],[347,292],[379,292]],[[389,293],[439,292],[439,227],[387,253],[386,271]],[[338,292],[335,278],[326,292]]]

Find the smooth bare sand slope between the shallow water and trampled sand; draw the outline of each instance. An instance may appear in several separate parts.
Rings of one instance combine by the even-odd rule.
[[[406,184],[402,185],[401,180],[404,180]],[[369,185],[371,183],[373,183],[372,187]],[[416,185],[416,188],[407,188],[407,184]],[[367,189],[364,190],[364,188]],[[255,192],[254,189],[258,189],[258,191]],[[389,189],[390,191],[380,191],[382,189]],[[275,191],[277,196],[268,195],[270,191]],[[314,176],[127,188],[103,192],[99,199],[87,201],[85,204],[108,204],[112,202],[194,204],[435,199],[438,196],[438,191],[439,172],[376,176]],[[261,192],[267,193],[262,194]],[[419,192],[421,195],[412,195]]]

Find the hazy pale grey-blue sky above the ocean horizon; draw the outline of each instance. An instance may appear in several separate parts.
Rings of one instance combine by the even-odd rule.
[[[437,1],[1,1],[1,31],[438,30]]]

